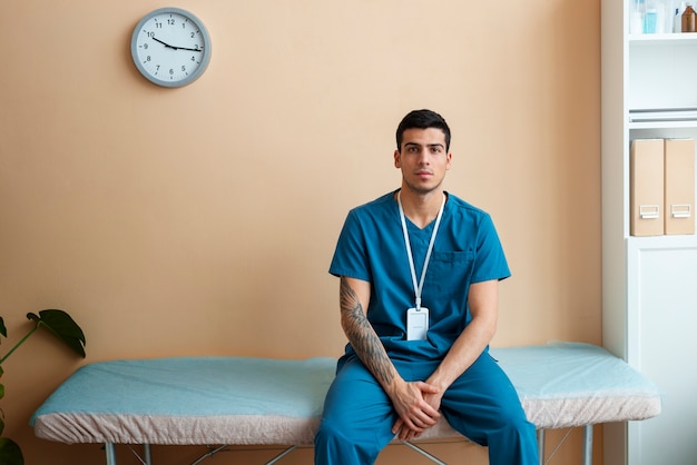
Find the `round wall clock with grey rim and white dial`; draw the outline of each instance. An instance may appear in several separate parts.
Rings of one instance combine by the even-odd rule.
[[[181,87],[198,79],[210,60],[210,37],[204,23],[179,8],[147,13],[134,29],[130,55],[150,82]]]

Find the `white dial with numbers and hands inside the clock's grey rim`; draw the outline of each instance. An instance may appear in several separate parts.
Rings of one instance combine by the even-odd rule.
[[[205,36],[189,18],[166,12],[150,18],[138,32],[137,57],[155,79],[181,81],[200,67]]]

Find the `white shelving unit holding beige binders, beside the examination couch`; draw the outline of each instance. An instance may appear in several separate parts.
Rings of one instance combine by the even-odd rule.
[[[630,121],[630,110],[697,108],[697,33],[629,34],[630,0],[601,0],[602,339],[662,393],[662,413],[606,425],[606,465],[697,464],[697,236],[629,235],[629,148],[697,139],[697,118]]]

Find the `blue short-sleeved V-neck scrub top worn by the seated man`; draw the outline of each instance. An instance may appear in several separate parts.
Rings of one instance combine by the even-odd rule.
[[[395,192],[348,212],[330,273],[371,283],[367,318],[391,358],[442,359],[471,319],[470,284],[511,274],[489,214],[448,194],[421,296],[430,310],[428,338],[406,340],[414,286]],[[419,229],[406,218],[416,280],[434,224]],[[348,344],[346,355],[352,354]]]

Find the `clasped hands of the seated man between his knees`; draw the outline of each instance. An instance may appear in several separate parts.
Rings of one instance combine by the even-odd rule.
[[[441,417],[441,393],[435,386],[424,382],[405,383],[392,396],[399,418],[392,433],[401,441],[414,439],[434,426]]]

